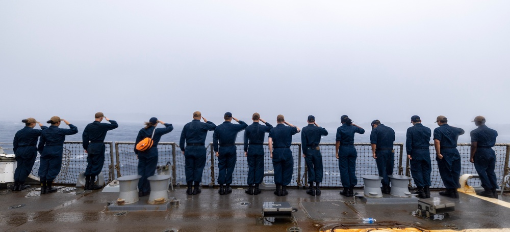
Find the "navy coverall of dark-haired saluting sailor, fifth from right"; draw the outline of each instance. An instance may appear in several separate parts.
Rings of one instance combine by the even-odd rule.
[[[365,129],[343,124],[337,129],[336,141],[340,141],[338,148],[338,168],[340,180],[344,188],[351,188],[358,184],[356,178],[356,158],[358,151],[354,147],[354,133],[364,134]]]

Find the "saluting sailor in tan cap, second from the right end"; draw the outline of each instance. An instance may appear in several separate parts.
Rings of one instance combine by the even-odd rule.
[[[457,150],[457,139],[464,130],[448,125],[448,119],[439,115],[436,119],[439,127],[434,129],[434,147],[439,174],[446,191],[439,192],[442,196],[458,198],[457,188],[461,187],[461,155]]]

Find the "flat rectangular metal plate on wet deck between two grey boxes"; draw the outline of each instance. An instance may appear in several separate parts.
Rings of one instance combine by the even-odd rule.
[[[314,220],[353,220],[362,218],[344,201],[303,201],[301,208]]]

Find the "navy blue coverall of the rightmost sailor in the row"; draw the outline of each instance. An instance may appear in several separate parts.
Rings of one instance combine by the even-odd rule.
[[[481,187],[485,190],[496,190],[498,180],[494,168],[496,167],[496,153],[492,149],[496,143],[498,132],[481,125],[471,131],[471,142],[477,142],[474,165],[480,177]]]

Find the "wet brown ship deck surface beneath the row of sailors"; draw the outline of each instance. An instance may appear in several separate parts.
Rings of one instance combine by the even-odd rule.
[[[510,196],[499,200],[460,193],[460,199],[432,197],[455,202],[455,212],[442,219],[415,216],[418,202],[409,204],[366,204],[360,198],[345,197],[339,189],[323,189],[310,196],[303,189],[289,188],[289,195],[276,196],[271,190],[248,195],[234,188],[219,195],[217,188],[203,188],[198,195],[186,195],[185,188],[169,191],[172,202],[167,211],[109,211],[107,203],[118,193],[100,190],[77,194],[64,188],[57,193],[38,194],[37,186],[21,192],[4,190],[0,199],[1,231],[510,231]],[[71,191],[65,191],[71,190]],[[358,189],[358,191],[363,191]],[[385,195],[386,196],[386,195]],[[148,196],[140,197],[147,201]],[[296,208],[291,220],[262,218],[264,201],[287,201]],[[376,219],[363,224],[362,218]]]

